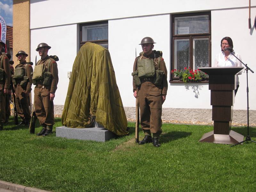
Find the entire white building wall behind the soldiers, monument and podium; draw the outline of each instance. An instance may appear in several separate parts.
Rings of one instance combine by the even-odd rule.
[[[163,0],[159,3],[159,6],[152,6],[155,4],[155,1],[151,0],[149,0],[147,4],[133,0],[76,0],[73,1],[72,4],[67,0],[31,0],[30,2],[31,60],[34,61],[35,56],[38,55],[35,49],[41,42],[46,42],[52,46],[52,49],[49,50],[49,54],[57,55],[60,58],[60,61],[58,61],[59,84],[54,104],[63,105],[65,102],[68,89],[67,72],[72,70],[72,65],[77,53],[77,40],[79,40],[79,28],[77,28],[77,23],[108,20],[109,52],[111,54],[116,73],[116,81],[123,104],[125,107],[129,107],[135,106],[135,99],[132,94],[131,73],[135,59],[135,48],[137,48],[137,56],[139,52],[141,52],[141,47],[138,45],[140,40],[145,36],[153,37],[157,42],[155,49],[163,51],[163,58],[168,73],[170,74],[170,13],[213,10],[211,21],[212,63],[214,62],[215,55],[220,51],[221,38],[230,36],[233,39],[235,51],[240,53],[243,61],[248,63],[252,70],[255,71],[254,74],[249,73],[249,104],[250,109],[256,110],[256,89],[254,83],[256,69],[252,57],[253,53],[255,54],[256,51],[254,47],[256,30],[250,31],[248,29],[248,8],[244,8],[247,6],[247,3],[244,1],[228,0],[227,3],[222,4],[220,0],[214,2],[180,0],[174,3]],[[251,4],[254,6],[251,10],[251,15],[253,16],[256,14],[256,1]],[[58,7],[58,9],[56,9],[56,7]],[[97,7],[96,11],[95,7]],[[223,10],[220,8],[231,9]],[[51,12],[51,14],[45,14],[44,20],[38,22],[38,10],[45,9]],[[97,14],[95,14],[95,12],[97,12]],[[237,25],[241,28],[238,28]],[[248,47],[250,47],[250,49],[245,49]],[[170,80],[169,74],[168,81]],[[245,74],[242,74],[240,76],[240,87],[236,95],[234,109],[246,109],[245,80]],[[211,108],[208,84],[169,84],[167,98],[163,107]]]

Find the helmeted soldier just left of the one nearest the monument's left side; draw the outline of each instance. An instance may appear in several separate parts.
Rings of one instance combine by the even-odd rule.
[[[16,57],[20,63],[15,67],[12,81],[15,89],[17,114],[22,118],[20,125],[28,125],[31,119],[29,95],[32,90],[31,73],[33,72],[33,68],[26,61],[26,57],[28,57],[26,52],[19,51]]]

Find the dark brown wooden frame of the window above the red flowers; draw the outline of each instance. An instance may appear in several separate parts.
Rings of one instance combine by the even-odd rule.
[[[209,31],[208,33],[194,33],[194,34],[181,34],[181,35],[175,35],[175,18],[176,17],[188,17],[188,16],[197,16],[197,15],[208,15],[208,27]],[[189,39],[189,67],[193,70],[193,39],[194,38],[208,38],[209,39],[209,67],[212,66],[211,64],[211,44],[212,44],[212,38],[211,38],[211,12],[196,12],[196,13],[185,13],[185,14],[172,14],[172,36],[171,36],[171,48],[172,48],[172,58],[171,58],[171,66],[170,71],[174,69],[174,40],[176,39]],[[169,82],[180,82],[179,77],[175,77],[174,74],[170,73],[170,81]],[[208,79],[206,79],[206,82],[208,82]],[[181,83],[183,83],[181,81]],[[195,83],[195,82],[194,82]]]

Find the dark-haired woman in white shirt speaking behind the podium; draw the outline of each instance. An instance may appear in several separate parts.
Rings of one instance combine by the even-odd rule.
[[[215,61],[212,67],[242,67],[242,63],[239,61],[241,60],[241,56],[234,52],[233,50],[233,41],[230,37],[223,37],[220,41],[220,47],[221,52],[216,55]],[[232,52],[234,55],[232,55],[230,52]],[[238,73],[238,75],[241,75],[242,72]],[[236,92],[239,87],[239,79],[238,75],[236,75],[236,89],[235,89],[235,96]]]

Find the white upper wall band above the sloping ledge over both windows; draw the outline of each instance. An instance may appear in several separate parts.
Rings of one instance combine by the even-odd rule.
[[[30,0],[30,28],[248,5],[248,0]],[[39,12],[45,14],[38,17]]]

